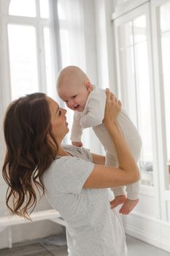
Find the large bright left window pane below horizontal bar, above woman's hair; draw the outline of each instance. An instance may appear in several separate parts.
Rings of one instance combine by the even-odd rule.
[[[8,25],[12,99],[38,91],[36,34],[32,26]]]

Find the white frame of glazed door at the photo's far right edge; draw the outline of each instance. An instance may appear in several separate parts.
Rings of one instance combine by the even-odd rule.
[[[160,12],[159,7],[163,5],[167,0],[155,0],[151,1],[151,18],[152,18],[152,41],[153,48],[153,67],[154,67],[154,81],[155,81],[155,105],[156,114],[156,127],[158,127],[158,176],[161,189],[161,208],[163,220],[168,220],[167,207],[168,201],[170,201],[170,184],[169,174],[166,166],[166,118],[164,109],[164,93],[163,93],[163,63],[161,54],[161,27],[160,27]]]

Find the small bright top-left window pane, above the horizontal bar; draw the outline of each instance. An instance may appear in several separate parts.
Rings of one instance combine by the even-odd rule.
[[[35,0],[11,0],[9,15],[36,17]]]

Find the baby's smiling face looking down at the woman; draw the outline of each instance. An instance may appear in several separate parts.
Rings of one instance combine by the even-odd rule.
[[[82,112],[85,108],[85,103],[88,99],[89,92],[85,85],[78,84],[63,84],[58,89],[58,96],[66,102],[68,108]]]

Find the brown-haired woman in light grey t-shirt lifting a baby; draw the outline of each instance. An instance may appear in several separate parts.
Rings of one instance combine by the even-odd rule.
[[[117,127],[121,103],[108,89],[106,94],[103,122],[115,143],[119,168],[104,166],[103,156],[85,148],[61,146],[69,132],[66,110],[45,94],[15,100],[4,119],[7,206],[13,214],[28,217],[28,210],[36,206],[36,189],[42,189],[67,223],[69,256],[127,253],[123,226],[110,208],[107,188],[138,181],[139,170]]]

